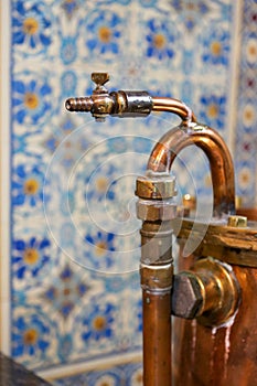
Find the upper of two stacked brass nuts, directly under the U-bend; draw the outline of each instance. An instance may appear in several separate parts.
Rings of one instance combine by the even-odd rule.
[[[176,195],[175,178],[171,175],[140,176],[137,179],[136,195],[150,200],[171,199]]]

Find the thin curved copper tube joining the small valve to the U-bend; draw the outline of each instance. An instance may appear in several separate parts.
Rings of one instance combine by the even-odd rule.
[[[152,111],[169,111],[178,115],[182,121],[195,122],[196,118],[189,106],[183,101],[168,97],[152,97]]]

